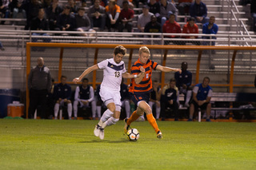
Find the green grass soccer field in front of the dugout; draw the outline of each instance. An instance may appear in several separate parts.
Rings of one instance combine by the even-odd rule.
[[[158,121],[163,139],[134,122],[94,136],[98,121],[0,120],[1,169],[255,169],[256,124]]]

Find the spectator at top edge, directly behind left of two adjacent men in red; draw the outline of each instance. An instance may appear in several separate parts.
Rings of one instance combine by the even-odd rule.
[[[161,0],[160,1],[161,26],[163,26],[166,23],[166,20],[168,20],[170,14],[174,14],[174,19],[175,19],[178,14],[177,8],[174,6],[172,2],[169,2],[167,0]]]

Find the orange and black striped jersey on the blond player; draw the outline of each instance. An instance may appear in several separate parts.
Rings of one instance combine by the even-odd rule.
[[[145,77],[142,79],[142,81],[137,85],[134,81],[134,78],[131,80],[130,83],[130,93],[150,93],[152,91],[152,69],[156,69],[158,66],[157,62],[148,60],[146,61],[146,64],[142,64],[139,60],[134,62],[134,65],[131,67],[131,73],[132,74],[138,74],[140,73],[140,67],[143,67],[145,69]]]

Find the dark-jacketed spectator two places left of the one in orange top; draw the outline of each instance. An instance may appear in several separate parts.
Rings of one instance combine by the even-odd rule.
[[[90,29],[90,19],[86,15],[86,10],[83,7],[80,7],[78,10],[78,14],[75,14],[74,16],[77,31],[80,32],[95,32],[95,30]],[[88,36],[86,33],[82,34],[83,36]]]

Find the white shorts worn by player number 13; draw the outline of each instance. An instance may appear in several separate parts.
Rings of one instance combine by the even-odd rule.
[[[120,105],[120,106],[122,105],[120,92],[118,91],[101,87],[101,89],[99,90],[99,95],[101,96],[104,104],[106,103],[106,101],[109,101],[112,99],[114,101],[114,105]]]

